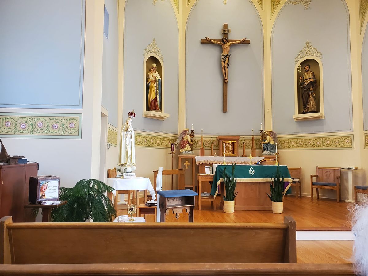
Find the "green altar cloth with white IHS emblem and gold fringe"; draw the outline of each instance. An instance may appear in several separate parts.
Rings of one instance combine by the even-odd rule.
[[[220,185],[223,180],[223,171],[227,167],[227,173],[231,174],[231,165],[220,165],[216,167],[215,175],[213,176],[211,195],[216,197],[218,191],[218,185]],[[289,189],[292,179],[287,169],[287,166],[280,167],[280,180],[284,177],[284,191],[283,194],[291,194],[291,189]],[[277,166],[273,165],[236,165],[235,166],[235,178],[237,182],[272,182],[272,178],[276,174]]]

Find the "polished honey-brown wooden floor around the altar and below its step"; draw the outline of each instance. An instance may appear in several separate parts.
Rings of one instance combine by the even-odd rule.
[[[220,198],[217,199],[217,207]],[[211,209],[210,202],[203,201],[201,210],[194,210],[194,222],[283,222],[285,215],[291,215],[297,222],[297,230],[321,230],[325,227],[345,227],[348,222],[348,204],[335,200],[320,199],[311,201],[309,197],[295,198],[287,196],[284,200],[284,213],[274,214],[272,211],[235,211],[232,214],[223,210]],[[119,215],[126,214],[119,210]],[[147,222],[153,222],[153,215],[146,215]],[[184,211],[179,219],[173,213],[166,216],[167,222],[188,222],[188,214]],[[298,263],[351,263],[353,241],[297,241]]]

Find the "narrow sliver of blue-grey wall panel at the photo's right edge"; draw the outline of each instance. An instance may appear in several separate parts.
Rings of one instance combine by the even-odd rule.
[[[363,124],[364,130],[368,130],[368,28],[365,28],[362,49],[362,92],[363,92]]]

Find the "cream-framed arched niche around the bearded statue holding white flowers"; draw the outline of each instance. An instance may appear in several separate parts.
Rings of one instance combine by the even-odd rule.
[[[316,111],[305,111],[306,102],[303,102],[302,88],[300,87],[300,77],[305,73],[309,65],[309,72],[314,72],[316,82],[313,84],[315,94]],[[323,114],[323,66],[318,57],[307,56],[299,60],[294,68],[294,120],[315,120],[324,119]],[[314,97],[314,96],[313,96]],[[308,102],[308,99],[307,99]],[[308,103],[307,103],[308,104]]]

